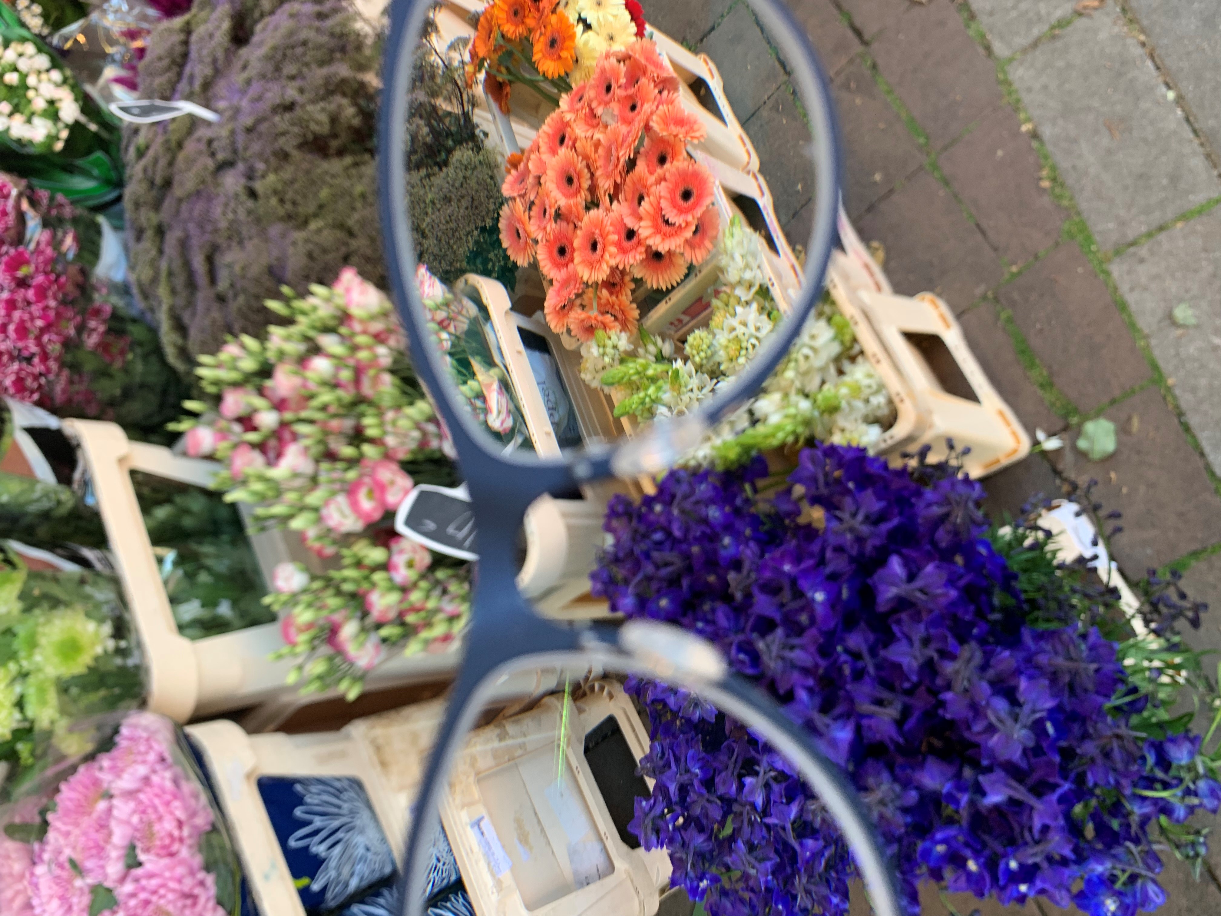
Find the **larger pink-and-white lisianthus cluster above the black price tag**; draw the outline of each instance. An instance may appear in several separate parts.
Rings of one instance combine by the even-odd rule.
[[[344,267],[331,287],[267,308],[289,324],[230,338],[195,370],[216,403],[187,402],[187,454],[226,464],[228,500],[300,531],[320,557],[377,524],[414,482],[400,462],[440,457],[432,405],[399,370],[405,340],[386,296]]]

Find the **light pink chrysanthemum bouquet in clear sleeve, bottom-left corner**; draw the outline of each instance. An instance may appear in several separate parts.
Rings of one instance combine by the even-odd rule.
[[[92,754],[0,810],[0,914],[236,914],[237,856],[182,734],[148,712],[87,728]]]

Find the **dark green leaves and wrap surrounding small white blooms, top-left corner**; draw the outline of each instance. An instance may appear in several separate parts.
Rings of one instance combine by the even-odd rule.
[[[0,4],[0,39],[6,45],[13,40],[32,42],[38,51],[57,62],[65,85],[76,84],[59,54],[26,28],[7,4]],[[0,170],[20,175],[34,187],[63,194],[74,204],[103,206],[123,188],[120,129],[114,116],[88,93],[79,94],[79,109],[83,117],[72,123],[59,150],[33,150],[0,131]]]

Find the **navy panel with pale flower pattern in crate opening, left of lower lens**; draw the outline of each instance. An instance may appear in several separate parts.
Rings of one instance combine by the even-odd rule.
[[[394,874],[393,852],[359,779],[264,776],[259,794],[309,916],[353,903]]]

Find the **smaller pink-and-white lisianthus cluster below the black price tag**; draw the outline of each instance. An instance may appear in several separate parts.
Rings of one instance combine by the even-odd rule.
[[[280,613],[284,640],[274,657],[297,660],[289,683],[354,700],[391,653],[451,649],[470,612],[469,567],[433,561],[410,539],[381,536],[341,548],[339,567],[320,575],[280,564],[265,602]]]

